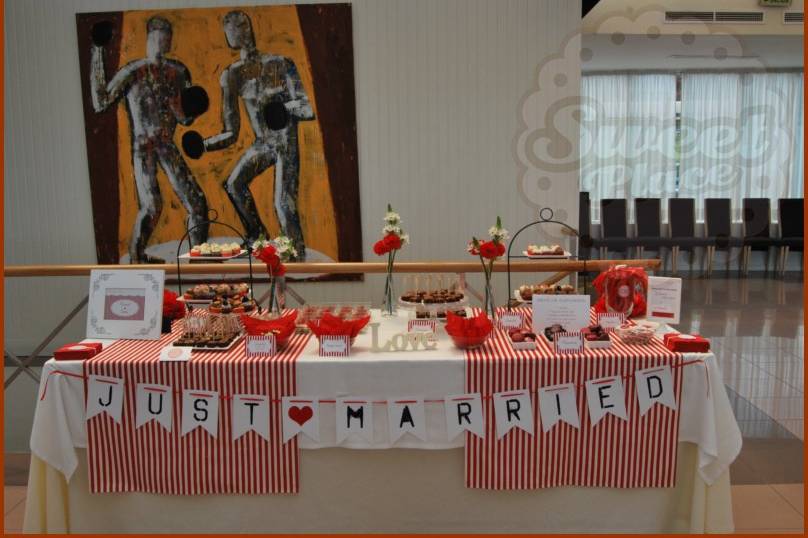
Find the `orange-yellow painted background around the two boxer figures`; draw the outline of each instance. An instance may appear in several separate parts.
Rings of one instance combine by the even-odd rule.
[[[119,65],[146,55],[146,21],[159,15],[172,25],[171,51],[167,55],[181,61],[191,73],[193,84],[208,92],[210,108],[188,127],[177,126],[174,141],[182,148],[182,135],[195,130],[203,137],[221,132],[221,88],[219,77],[222,71],[239,59],[238,51],[227,46],[222,20],[233,8],[180,9],[159,11],[127,11],[123,17],[123,32]],[[297,66],[303,87],[312,108],[317,113],[317,100],[297,11],[294,6],[244,7],[252,20],[258,50],[264,53],[286,56]],[[219,212],[219,220],[243,232],[230,199],[222,184],[235,166],[244,150],[252,144],[254,135],[244,106],[239,102],[241,132],[238,140],[229,148],[205,153],[198,160],[185,158],[197,183],[208,201],[208,207]],[[303,236],[309,248],[318,250],[332,259],[337,259],[337,230],[334,208],[328,183],[328,168],[323,152],[323,137],[319,121],[302,121],[298,124],[300,147],[300,186],[297,208],[300,213]],[[137,214],[137,194],[132,171],[129,118],[123,106],[118,107],[118,162],[120,169],[120,223],[118,246],[121,255],[129,249],[129,239]],[[180,149],[180,151],[182,151]],[[271,167],[257,176],[250,185],[261,220],[273,236],[280,233],[280,225],[273,205],[275,168]],[[158,166],[158,183],[163,197],[163,211],[149,245],[177,240],[185,232],[187,213],[174,194],[165,173]],[[210,236],[232,235],[223,226],[214,226]]]

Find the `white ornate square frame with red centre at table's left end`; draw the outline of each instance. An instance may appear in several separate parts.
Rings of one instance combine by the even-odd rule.
[[[87,338],[158,340],[163,321],[162,269],[90,273]]]

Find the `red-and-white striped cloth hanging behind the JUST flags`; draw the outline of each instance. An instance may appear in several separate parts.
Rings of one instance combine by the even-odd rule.
[[[297,493],[297,439],[283,443],[281,403],[295,394],[295,360],[309,335],[294,335],[272,358],[247,358],[243,342],[229,351],[194,351],[189,362],[160,362],[160,350],[178,336],[157,341],[120,341],[87,360],[89,375],[122,378],[125,384],[120,424],[102,413],[87,421],[88,468],[93,493],[131,492],[165,495],[216,493]],[[156,421],[135,428],[138,383],[174,389],[173,424]],[[218,436],[203,428],[181,435],[182,391],[218,391]],[[232,440],[232,395],[270,398],[269,441],[249,431]]]

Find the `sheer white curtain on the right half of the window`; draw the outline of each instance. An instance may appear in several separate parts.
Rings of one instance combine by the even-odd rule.
[[[704,198],[730,198],[737,220],[743,198],[802,192],[802,93],[801,73],[682,76],[679,196],[699,218]]]

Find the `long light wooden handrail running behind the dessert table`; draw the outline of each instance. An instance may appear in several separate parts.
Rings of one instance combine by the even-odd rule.
[[[556,271],[602,271],[613,265],[626,264],[634,267],[658,269],[658,259],[649,260],[530,260],[511,262],[514,273],[550,273]],[[51,277],[51,276],[86,276],[93,269],[163,269],[168,275],[177,274],[177,265],[166,264],[133,264],[133,265],[7,265],[3,267],[3,276],[15,277]],[[253,271],[263,273],[263,264],[253,265]],[[385,273],[387,264],[383,262],[346,262],[346,263],[287,263],[287,273],[300,274],[355,274]],[[479,273],[482,271],[477,261],[468,262],[397,262],[393,265],[395,273]],[[494,264],[494,271],[507,271],[505,262]],[[187,263],[182,266],[182,274],[245,274],[246,263]]]

